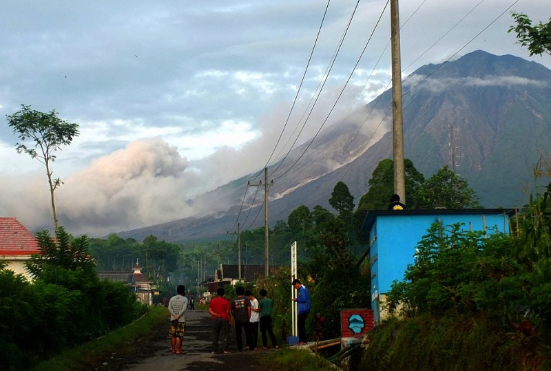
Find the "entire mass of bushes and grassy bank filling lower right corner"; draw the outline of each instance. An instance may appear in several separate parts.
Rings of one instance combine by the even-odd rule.
[[[534,205],[542,202],[528,209]],[[541,216],[526,213],[523,232],[542,222]],[[542,369],[548,359],[551,270],[541,249],[548,237],[534,238],[548,231],[537,230],[520,237],[486,236],[464,231],[460,224],[433,224],[419,242],[404,282],[395,282],[386,296],[388,309],[402,317],[373,331],[373,346],[362,363],[388,370],[404,365]],[[400,351],[405,344],[407,354]]]

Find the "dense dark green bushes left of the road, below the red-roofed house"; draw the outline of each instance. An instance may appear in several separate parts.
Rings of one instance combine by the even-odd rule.
[[[0,356],[8,370],[28,370],[40,359],[78,346],[143,315],[121,282],[100,281],[86,236],[37,233],[41,254],[28,270],[34,281],[0,269]]]

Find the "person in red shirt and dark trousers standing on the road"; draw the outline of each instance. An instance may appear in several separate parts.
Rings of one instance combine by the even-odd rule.
[[[216,290],[216,297],[209,303],[209,313],[212,315],[212,353],[229,353],[229,301],[224,297],[225,290],[219,287]],[[220,340],[221,343],[218,343]]]

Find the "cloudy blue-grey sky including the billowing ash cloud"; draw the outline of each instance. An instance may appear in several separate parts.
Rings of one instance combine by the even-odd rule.
[[[402,76],[474,50],[551,68],[507,32],[512,11],[551,16],[549,0],[402,1]],[[8,1],[0,45],[0,216],[51,229],[45,167],[17,153],[7,116],[54,109],[80,131],[52,164],[60,224],[91,237],[204,213],[187,200],[270,165],[391,79],[386,0]]]

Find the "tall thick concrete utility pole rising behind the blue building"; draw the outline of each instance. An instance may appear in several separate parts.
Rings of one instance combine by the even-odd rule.
[[[402,65],[400,62],[400,17],[398,0],[391,0],[392,45],[392,128],[394,154],[394,193],[406,203],[404,167],[404,123],[402,118]]]

